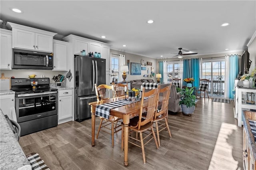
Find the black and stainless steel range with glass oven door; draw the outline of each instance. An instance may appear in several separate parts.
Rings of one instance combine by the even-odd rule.
[[[58,125],[58,90],[49,78],[11,79],[21,136]]]

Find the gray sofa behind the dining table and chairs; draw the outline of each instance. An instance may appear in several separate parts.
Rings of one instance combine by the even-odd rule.
[[[149,83],[154,82],[153,79],[147,79],[147,80],[148,80]],[[143,80],[130,81],[131,89],[132,88],[140,89],[140,86],[142,85],[142,81]],[[162,89],[162,88],[164,88],[168,85],[169,84],[161,84],[160,88]],[[149,91],[149,90],[146,90],[146,91]],[[179,101],[180,101],[180,93],[177,93],[176,86],[172,85],[170,98],[169,98],[169,104],[168,104],[168,111],[169,111],[170,114],[174,114],[174,113],[177,113],[178,111],[181,111]]]

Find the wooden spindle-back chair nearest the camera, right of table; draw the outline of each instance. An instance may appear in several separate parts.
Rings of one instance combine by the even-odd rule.
[[[134,144],[135,146],[138,146],[142,150],[142,156],[143,156],[143,162],[146,164],[146,156],[145,156],[145,150],[144,146],[148,144],[152,139],[155,140],[156,148],[158,149],[158,142],[156,140],[156,134],[153,129],[153,119],[154,119],[154,113],[156,110],[156,102],[158,98],[158,91],[159,91],[160,85],[156,89],[152,89],[148,92],[145,92],[145,88],[142,90],[142,99],[141,99],[141,105],[140,105],[140,112],[139,115],[136,117],[133,117],[130,119],[130,123],[128,125],[129,128],[129,136],[128,136],[128,142],[131,144]],[[148,99],[144,99],[144,97],[148,97]],[[146,101],[147,100],[147,101]],[[146,117],[142,117],[143,105],[146,104]],[[122,123],[122,125],[124,125]],[[143,137],[142,133],[146,132],[147,130],[150,130],[151,132],[146,134],[146,136]],[[131,133],[136,132],[140,134],[140,140],[137,138],[134,138]],[[153,134],[153,137],[151,137],[151,134]],[[144,139],[147,137],[151,137],[144,143]],[[130,139],[130,140],[129,140]],[[135,143],[137,142],[137,143]],[[138,144],[140,142],[140,145]],[[121,149],[124,149],[124,126],[122,126],[122,143],[121,143]]]

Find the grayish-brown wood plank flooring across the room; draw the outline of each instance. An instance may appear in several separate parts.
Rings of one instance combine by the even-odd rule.
[[[234,119],[234,102],[212,99],[197,102],[190,116],[169,115],[172,133],[160,132],[160,148],[154,140],[145,146],[146,164],[141,149],[129,144],[128,167],[123,166],[121,131],[111,135],[100,132],[91,146],[91,120],[70,121],[57,127],[20,138],[25,154],[37,152],[51,170],[208,170],[242,169],[242,128]],[[96,130],[100,119],[96,117]]]

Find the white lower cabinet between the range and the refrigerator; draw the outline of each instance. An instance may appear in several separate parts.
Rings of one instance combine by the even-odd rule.
[[[58,90],[58,124],[72,121],[73,90]]]

